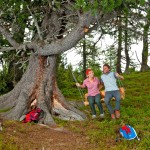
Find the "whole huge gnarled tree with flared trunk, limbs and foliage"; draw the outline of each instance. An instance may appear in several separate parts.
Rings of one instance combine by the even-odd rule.
[[[53,115],[68,120],[86,118],[84,113],[65,101],[57,87],[56,57],[74,47],[99,24],[116,17],[116,10],[123,7],[122,1],[111,2],[114,5],[105,2],[106,0],[0,2],[0,34],[7,41],[0,51],[30,53],[29,64],[21,80],[12,91],[0,97],[0,109],[10,108],[2,114],[4,118],[19,120],[35,98],[38,107],[46,113],[45,124],[55,124]]]

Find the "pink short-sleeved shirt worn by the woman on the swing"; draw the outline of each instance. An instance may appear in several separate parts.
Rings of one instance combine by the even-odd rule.
[[[85,79],[83,81],[82,87],[87,87],[88,89],[88,96],[95,96],[99,94],[99,84],[100,81],[97,77],[94,77],[93,82],[90,82],[89,79]]]

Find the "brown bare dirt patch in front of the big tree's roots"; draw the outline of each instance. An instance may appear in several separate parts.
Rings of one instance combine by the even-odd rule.
[[[7,121],[1,133],[4,149],[8,145],[19,150],[87,150],[93,147],[87,136],[57,126]]]

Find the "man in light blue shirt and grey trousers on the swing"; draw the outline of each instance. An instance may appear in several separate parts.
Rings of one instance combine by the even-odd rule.
[[[120,118],[120,92],[116,83],[116,79],[124,80],[124,77],[117,72],[111,72],[108,64],[103,65],[103,74],[101,76],[101,82],[105,87],[105,104],[111,114],[111,118]],[[115,109],[112,108],[110,100],[114,97],[116,99]]]

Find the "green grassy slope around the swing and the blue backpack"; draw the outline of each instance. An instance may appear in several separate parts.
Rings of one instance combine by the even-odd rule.
[[[87,114],[88,119],[83,122],[66,123],[66,127],[72,131],[88,136],[90,142],[95,145],[93,149],[150,149],[150,71],[135,72],[124,75],[124,77],[126,98],[121,101],[120,119],[112,121],[107,108],[104,106],[104,120],[93,120],[90,114]],[[89,107],[83,107],[81,110],[84,109],[90,111]],[[116,143],[115,139],[120,136],[119,128],[123,123],[133,126],[141,140],[121,140]]]

